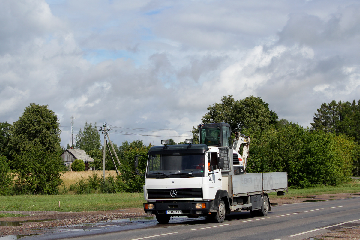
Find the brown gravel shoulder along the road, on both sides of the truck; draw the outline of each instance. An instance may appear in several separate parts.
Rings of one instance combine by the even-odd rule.
[[[342,199],[360,196],[360,193],[347,193],[347,194],[323,194],[316,196],[303,196],[302,198],[290,198],[290,199],[279,199],[270,200],[271,203],[291,204],[291,203],[302,203],[305,200],[332,200]],[[146,217],[142,208],[131,208],[131,209],[118,209],[113,211],[96,211],[96,212],[17,212],[17,211],[0,211],[0,213],[14,213],[14,214],[26,214],[30,216],[23,217],[12,217],[12,218],[0,218],[0,221],[13,222],[13,221],[28,221],[28,220],[39,220],[39,219],[55,219],[54,221],[48,222],[23,222],[21,226],[0,226],[0,237],[9,235],[27,235],[27,234],[41,234],[47,232],[47,229],[52,227],[77,225],[81,223],[94,223],[114,219],[123,218],[135,218],[135,217]],[[336,230],[341,236],[346,235],[347,232],[353,231],[356,235],[350,239],[360,239],[360,228],[342,228],[343,230]],[[345,235],[344,235],[345,234]],[[350,233],[349,233],[350,234]],[[339,236],[340,236],[339,235]],[[350,236],[350,235],[349,235]],[[357,236],[357,238],[355,238]],[[318,238],[321,239],[319,236]],[[326,237],[327,240],[331,238]],[[342,238],[336,238],[339,240]],[[349,239],[349,238],[343,238]]]

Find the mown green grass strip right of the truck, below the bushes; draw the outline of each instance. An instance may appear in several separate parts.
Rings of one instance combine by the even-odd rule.
[[[289,189],[285,196],[276,196],[276,193],[270,193],[271,199],[298,198],[301,196],[313,196],[320,194],[336,193],[358,193],[360,192],[360,180],[353,179],[351,182],[339,184],[338,186],[319,186],[307,189]]]

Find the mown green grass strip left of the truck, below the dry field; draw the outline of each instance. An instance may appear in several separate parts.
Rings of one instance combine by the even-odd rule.
[[[0,196],[0,211],[100,211],[142,208],[143,203],[143,193],[15,195]]]

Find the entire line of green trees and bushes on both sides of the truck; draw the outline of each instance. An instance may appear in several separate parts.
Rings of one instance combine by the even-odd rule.
[[[292,187],[336,185],[349,180],[351,175],[359,176],[360,100],[323,103],[314,114],[311,128],[279,120],[269,104],[255,96],[235,100],[227,95],[207,110],[203,123],[227,122],[233,132],[251,136],[246,172],[287,171]],[[0,123],[0,195],[58,194],[63,184],[61,175],[68,171],[60,158],[65,148],[60,146],[59,127],[57,115],[47,105],[35,103],[26,107],[13,124]],[[193,127],[192,132],[196,143],[197,128]],[[172,139],[169,141],[176,144]],[[113,145],[121,162],[121,166],[116,162],[121,174],[112,177],[111,182],[104,179],[98,183],[107,182],[106,192],[142,191],[144,177],[135,175],[134,156],[146,155],[152,145],[141,140]],[[75,144],[67,146],[71,147],[84,149],[94,159],[93,169],[102,169],[103,147],[96,123],[86,121]],[[110,159],[105,150],[106,158]],[[146,161],[146,157],[139,158],[142,173]],[[106,169],[114,170],[112,161],[106,162]],[[94,181],[87,184],[90,182]],[[84,182],[80,185],[84,188]]]

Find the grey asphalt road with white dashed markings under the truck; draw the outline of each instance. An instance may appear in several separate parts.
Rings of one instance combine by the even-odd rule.
[[[360,225],[359,207],[360,197],[357,197],[273,206],[266,217],[251,217],[248,211],[231,213],[226,216],[224,223],[209,223],[204,218],[176,217],[167,225],[159,225],[155,219],[139,218],[80,226],[79,231],[63,228],[51,235],[37,235],[26,239],[300,240],[344,225]]]

